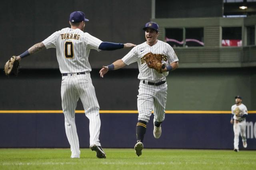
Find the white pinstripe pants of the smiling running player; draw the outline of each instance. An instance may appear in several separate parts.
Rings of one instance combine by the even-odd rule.
[[[140,81],[139,94],[137,99],[138,120],[148,122],[151,111],[154,111],[154,121],[162,122],[165,116],[165,106],[167,99],[167,84],[159,86],[144,84]]]

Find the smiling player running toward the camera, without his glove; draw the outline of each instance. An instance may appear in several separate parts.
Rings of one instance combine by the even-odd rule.
[[[138,94],[138,123],[136,126],[137,143],[134,147],[136,155],[140,156],[143,149],[143,139],[146,133],[146,124],[148,123],[151,111],[154,111],[154,137],[158,139],[161,136],[161,123],[164,121],[167,84],[166,76],[169,71],[178,67],[178,58],[172,47],[157,39],[158,24],[154,22],[146,23],[143,28],[145,31],[146,42],[134,47],[122,59],[115,61],[109,66],[103,66],[100,70],[100,76],[103,77],[108,70],[116,70],[131,63],[137,62],[139,68],[138,79],[140,79]],[[152,52],[162,56],[161,72],[149,68],[144,60],[144,55]]]

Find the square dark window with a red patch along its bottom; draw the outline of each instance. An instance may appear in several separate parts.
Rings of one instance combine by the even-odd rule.
[[[222,27],[222,46],[241,47],[242,27]]]

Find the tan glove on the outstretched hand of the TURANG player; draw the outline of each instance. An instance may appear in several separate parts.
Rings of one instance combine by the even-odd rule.
[[[12,56],[4,66],[4,72],[6,76],[13,73],[15,76],[18,76],[18,68],[20,66],[20,61],[16,60],[16,56]]]

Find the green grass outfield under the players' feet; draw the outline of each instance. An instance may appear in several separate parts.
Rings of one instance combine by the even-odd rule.
[[[70,149],[0,149],[0,170],[256,170],[256,151],[104,149],[106,159],[81,149],[80,159]]]

